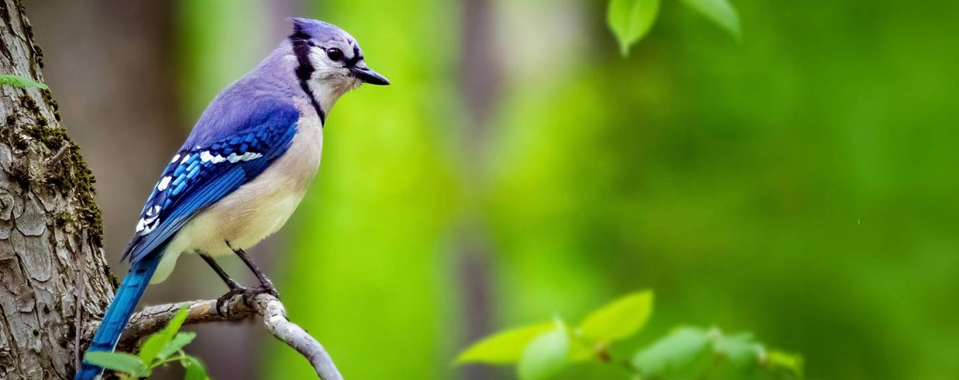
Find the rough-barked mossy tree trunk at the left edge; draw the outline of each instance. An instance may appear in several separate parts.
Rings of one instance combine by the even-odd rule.
[[[0,0],[0,74],[42,82],[41,67],[23,7]],[[50,91],[0,87],[0,379],[73,377],[77,316],[102,315],[113,293],[102,229]]]

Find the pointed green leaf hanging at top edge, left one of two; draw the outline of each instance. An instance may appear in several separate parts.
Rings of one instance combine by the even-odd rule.
[[[624,57],[629,55],[629,47],[643,38],[656,22],[659,4],[659,0],[610,0],[606,22],[620,42]]]

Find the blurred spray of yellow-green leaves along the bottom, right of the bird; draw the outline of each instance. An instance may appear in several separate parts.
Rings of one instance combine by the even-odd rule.
[[[767,350],[748,333],[682,327],[627,357],[611,344],[635,336],[649,321],[653,293],[620,297],[586,316],[532,324],[473,344],[456,364],[516,365],[522,380],[547,379],[799,379],[802,358]]]

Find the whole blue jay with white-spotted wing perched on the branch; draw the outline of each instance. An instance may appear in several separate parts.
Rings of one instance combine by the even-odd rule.
[[[224,297],[246,290],[213,258],[227,254],[243,259],[261,291],[276,294],[244,249],[280,229],[303,200],[339,97],[362,83],[389,83],[366,66],[353,36],[291,20],[292,35],[217,95],[156,182],[124,253],[131,267],[89,351],[115,347],[147,284],[166,279],[183,252],[198,253],[220,275],[230,289]],[[76,379],[102,371],[84,362]]]

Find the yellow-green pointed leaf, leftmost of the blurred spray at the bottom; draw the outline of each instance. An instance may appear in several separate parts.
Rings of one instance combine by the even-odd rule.
[[[485,363],[513,364],[520,361],[526,345],[540,334],[556,327],[554,322],[533,324],[497,333],[466,348],[456,358],[456,364]]]

